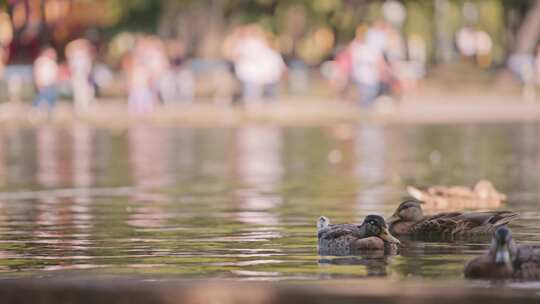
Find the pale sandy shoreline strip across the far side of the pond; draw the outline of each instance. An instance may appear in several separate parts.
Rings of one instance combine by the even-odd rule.
[[[101,100],[87,113],[76,114],[60,103],[50,114],[40,113],[27,103],[0,105],[0,126],[40,124],[126,128],[150,123],[179,127],[227,127],[245,123],[284,126],[317,126],[336,123],[460,124],[540,122],[540,102],[527,103],[509,96],[411,96],[401,101],[381,100],[365,110],[325,99],[286,98],[255,107],[211,103],[159,106],[152,113],[130,116],[123,100]]]

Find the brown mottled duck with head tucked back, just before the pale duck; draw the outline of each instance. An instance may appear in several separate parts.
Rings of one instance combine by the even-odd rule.
[[[445,212],[424,216],[422,202],[406,200],[387,220],[395,235],[461,236],[493,232],[518,216],[510,211]]]

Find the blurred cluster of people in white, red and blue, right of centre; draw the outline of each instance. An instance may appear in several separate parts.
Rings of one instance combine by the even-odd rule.
[[[414,88],[424,76],[425,65],[425,43],[420,37],[412,36],[405,43],[394,26],[378,20],[358,26],[353,41],[323,65],[322,73],[340,91],[354,83],[358,103],[367,107],[381,95],[399,96]]]

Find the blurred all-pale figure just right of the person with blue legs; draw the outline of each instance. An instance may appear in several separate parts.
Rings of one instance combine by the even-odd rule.
[[[74,40],[66,47],[66,57],[71,73],[75,110],[78,113],[84,113],[95,99],[94,85],[91,80],[94,61],[93,46],[86,39]]]

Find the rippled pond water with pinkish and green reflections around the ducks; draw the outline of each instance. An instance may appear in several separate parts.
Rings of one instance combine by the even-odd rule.
[[[488,239],[321,257],[316,219],[388,216],[407,185],[488,178],[521,213],[516,240],[540,243],[539,169],[535,124],[3,130],[0,278],[462,280]]]

